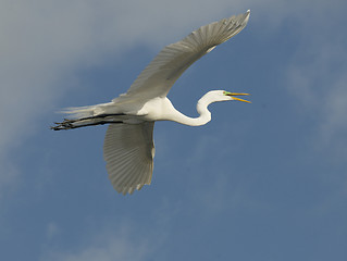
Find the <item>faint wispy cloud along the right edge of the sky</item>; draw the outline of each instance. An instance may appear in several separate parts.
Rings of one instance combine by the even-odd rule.
[[[308,18],[298,28],[300,44],[287,65],[287,87],[295,96],[293,103],[298,105],[300,113],[314,119],[313,148],[330,150],[344,160],[347,144],[347,36],[337,29],[344,10],[337,3],[339,1],[319,3],[320,9],[315,7],[307,12]],[[321,22],[323,13],[331,18]]]

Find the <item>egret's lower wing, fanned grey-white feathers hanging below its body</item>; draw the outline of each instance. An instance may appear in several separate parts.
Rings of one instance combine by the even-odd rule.
[[[123,195],[150,184],[153,172],[154,122],[110,124],[103,158],[114,189]]]

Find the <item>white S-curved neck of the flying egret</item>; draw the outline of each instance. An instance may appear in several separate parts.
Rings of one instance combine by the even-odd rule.
[[[211,112],[208,110],[208,105],[211,102],[202,97],[197,103],[197,111],[200,114],[198,117],[188,117],[181,112],[176,111],[175,117],[172,121],[189,125],[189,126],[201,126],[211,121]]]

